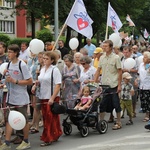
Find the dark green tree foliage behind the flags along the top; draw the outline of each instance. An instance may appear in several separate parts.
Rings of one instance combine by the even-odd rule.
[[[121,21],[123,27],[120,31],[127,31],[129,34],[132,32],[132,28],[128,26],[126,22],[127,14],[136,25],[136,31],[139,33],[141,29],[146,28],[150,31],[150,1],[149,0],[83,0],[89,16],[94,23],[93,31],[94,35],[99,34],[100,37],[104,37],[108,2],[114,8]],[[61,27],[74,3],[73,0],[59,0],[59,26]],[[34,14],[35,19],[40,19],[45,25],[54,24],[54,0],[20,0],[16,5],[17,10],[26,9],[27,16]],[[44,18],[44,19],[43,19]],[[109,32],[113,32],[109,28]]]

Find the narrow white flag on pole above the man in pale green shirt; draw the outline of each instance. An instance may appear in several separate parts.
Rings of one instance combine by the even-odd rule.
[[[108,4],[107,26],[112,27],[116,33],[118,33],[119,29],[122,27],[122,22],[114,9],[111,7],[110,3]]]

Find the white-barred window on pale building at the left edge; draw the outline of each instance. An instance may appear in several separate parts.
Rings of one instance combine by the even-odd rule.
[[[14,33],[14,21],[0,20],[0,33]]]

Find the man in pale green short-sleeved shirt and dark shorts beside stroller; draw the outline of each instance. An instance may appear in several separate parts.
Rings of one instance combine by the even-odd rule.
[[[103,42],[103,50],[105,53],[100,57],[99,66],[95,74],[95,81],[97,82],[99,72],[102,69],[101,83],[102,85],[108,85],[110,88],[105,90],[101,101],[100,119],[104,119],[108,105],[112,104],[112,108],[115,108],[117,113],[117,121],[112,129],[117,130],[122,127],[120,119],[121,107],[118,95],[121,91],[122,81],[121,61],[119,56],[113,53],[113,43],[111,40]]]

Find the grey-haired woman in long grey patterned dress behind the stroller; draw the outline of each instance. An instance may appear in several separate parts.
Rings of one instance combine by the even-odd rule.
[[[76,98],[80,89],[80,68],[73,63],[73,56],[67,54],[63,57],[66,64],[65,68],[62,71],[62,97],[67,101],[68,108],[74,108],[73,99]]]

